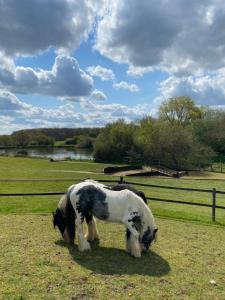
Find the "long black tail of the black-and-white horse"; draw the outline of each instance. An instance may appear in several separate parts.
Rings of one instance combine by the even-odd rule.
[[[69,234],[71,244],[74,244],[75,233],[76,233],[76,228],[75,228],[75,226],[76,226],[75,225],[76,213],[75,213],[75,210],[74,210],[74,208],[71,204],[70,190],[67,192],[65,197],[67,198],[66,199],[66,207],[65,207],[67,232]]]

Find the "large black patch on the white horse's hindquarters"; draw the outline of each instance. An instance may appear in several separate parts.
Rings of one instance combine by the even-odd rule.
[[[93,185],[86,185],[78,192],[77,210],[82,218],[90,220],[90,215],[96,216],[100,220],[109,218],[106,194]]]

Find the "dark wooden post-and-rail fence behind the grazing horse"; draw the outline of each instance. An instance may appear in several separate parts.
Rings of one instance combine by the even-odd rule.
[[[84,180],[82,179],[76,179],[75,181],[79,182]],[[144,183],[137,183],[132,181],[125,181],[123,177],[120,177],[119,180],[107,180],[107,179],[99,179],[99,182],[103,183],[125,183],[129,185],[136,185],[136,186],[142,186],[142,187],[153,187],[153,188],[159,188],[159,189],[168,189],[168,190],[180,190],[180,191],[190,191],[190,192],[200,192],[200,193],[209,193],[212,197],[212,203],[200,203],[200,202],[191,202],[191,201],[181,201],[181,200],[173,200],[173,199],[162,199],[162,198],[155,198],[155,197],[146,197],[147,200],[151,201],[159,201],[159,202],[167,202],[167,203],[176,203],[176,204],[182,204],[182,205],[193,205],[193,206],[202,206],[202,207],[209,207],[211,208],[211,214],[212,214],[212,221],[215,222],[216,220],[216,209],[223,209],[225,210],[225,206],[217,205],[216,204],[216,196],[217,194],[225,195],[225,191],[217,191],[215,188],[213,189],[195,189],[195,188],[183,188],[183,187],[174,187],[174,186],[164,186],[164,185],[155,185],[155,184],[144,184]],[[1,197],[17,197],[17,196],[57,196],[57,195],[63,195],[65,194],[65,191],[63,192],[42,192],[42,193],[1,193]]]

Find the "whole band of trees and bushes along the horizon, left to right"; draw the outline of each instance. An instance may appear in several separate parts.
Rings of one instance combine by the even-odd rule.
[[[225,111],[197,106],[186,96],[161,104],[158,117],[103,128],[38,128],[0,136],[0,149],[72,148],[93,152],[94,161],[161,164],[174,170],[225,162]]]

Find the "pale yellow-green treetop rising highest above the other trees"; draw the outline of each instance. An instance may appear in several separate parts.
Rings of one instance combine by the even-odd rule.
[[[203,111],[195,105],[194,100],[186,96],[170,98],[159,108],[159,118],[171,125],[185,126],[191,121],[201,119]]]

